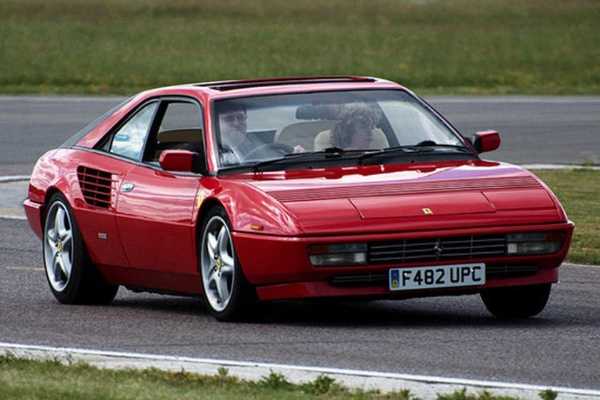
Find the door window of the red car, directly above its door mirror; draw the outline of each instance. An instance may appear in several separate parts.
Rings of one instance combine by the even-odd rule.
[[[200,107],[186,101],[163,101],[159,110],[159,115],[161,114],[158,131],[149,137],[145,161],[156,162],[160,153],[169,149],[204,154]]]

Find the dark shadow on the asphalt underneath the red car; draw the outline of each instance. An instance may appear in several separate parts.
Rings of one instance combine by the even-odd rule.
[[[277,301],[259,305],[243,324],[298,327],[405,327],[405,328],[556,328],[573,321],[556,318],[551,311],[529,319],[500,320],[488,314],[474,296],[468,299],[416,299],[399,301],[304,300]],[[478,298],[477,298],[478,299]],[[114,305],[128,309],[166,312],[171,317],[210,317],[198,298],[143,296],[118,298]],[[215,322],[216,323],[216,322]]]

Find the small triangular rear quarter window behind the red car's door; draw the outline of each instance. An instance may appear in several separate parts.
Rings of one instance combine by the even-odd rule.
[[[148,104],[119,128],[112,138],[109,152],[139,160],[157,107],[158,102]]]

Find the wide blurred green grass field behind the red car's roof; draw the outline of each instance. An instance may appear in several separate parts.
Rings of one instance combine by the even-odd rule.
[[[421,93],[600,93],[595,0],[2,0],[0,92],[367,74]]]

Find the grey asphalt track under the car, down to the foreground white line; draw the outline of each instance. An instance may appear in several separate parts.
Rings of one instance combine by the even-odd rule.
[[[64,306],[26,221],[0,219],[4,342],[415,373],[600,389],[600,268],[563,267],[538,317],[501,322],[478,296],[266,306],[219,323],[194,298],[121,289],[112,306]]]

